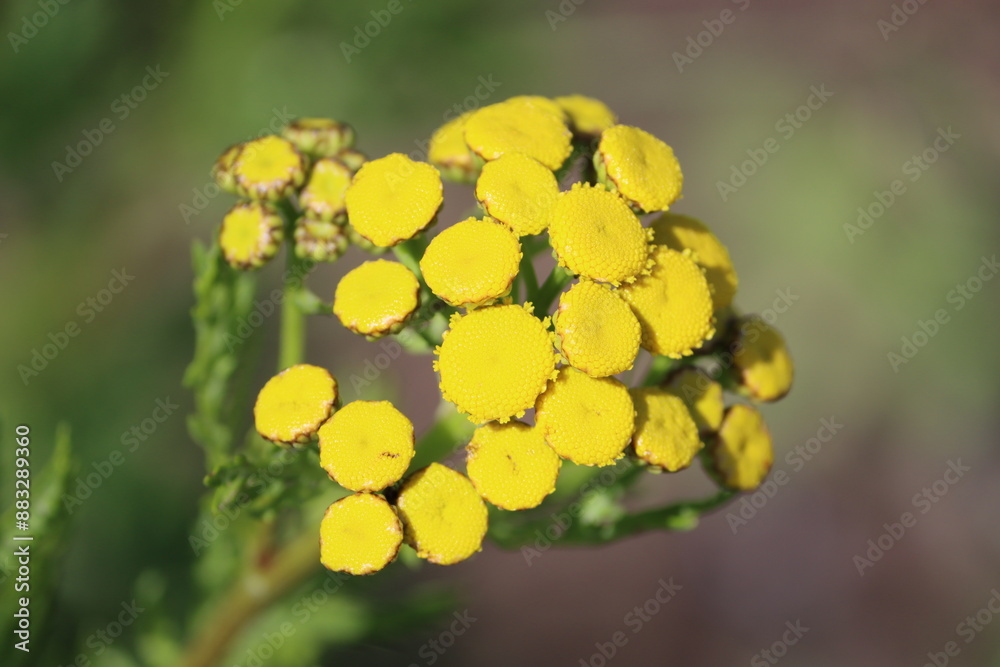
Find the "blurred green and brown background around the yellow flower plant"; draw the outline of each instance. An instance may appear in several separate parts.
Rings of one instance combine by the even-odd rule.
[[[393,566],[331,595],[269,664],[309,664],[288,657],[308,631],[328,644],[315,660],[324,665],[601,665],[597,644],[624,631],[627,643],[608,664],[764,665],[772,663],[761,652],[798,622],[808,630],[775,649],[781,664],[917,666],[955,642],[948,664],[1000,665],[1000,618],[981,613],[971,637],[959,627],[1000,587],[1000,279],[991,264],[1000,245],[1000,8],[985,0],[400,3],[348,55],[343,45],[387,3],[53,1],[44,21],[32,18],[44,2],[3,3],[0,506],[13,498],[15,424],[31,426],[36,475],[57,425],[68,424],[72,474],[86,475],[123,449],[123,434],[157,400],[180,406],[50,545],[60,560],[34,595],[51,621],[27,664],[86,655],[127,665],[126,655],[171,650],[158,633],[183,637],[189,627],[185,610],[203,582],[191,574],[188,538],[205,469],[186,432],[191,400],[180,382],[193,346],[190,245],[214,233],[232,201],[205,194],[220,150],[289,116],[318,115],[351,122],[370,155],[411,152],[456,104],[580,92],[674,147],[685,171],[675,210],[702,218],[728,244],[741,307],[766,311],[782,295],[790,304],[775,318],[797,382],[765,408],[775,470],[789,482],[745,524],[727,517],[736,505],[691,533],[551,549],[530,565],[487,546],[452,568]],[[32,32],[25,17],[44,25]],[[158,82],[124,104],[147,68],[159,68]],[[493,90],[477,99],[484,80]],[[783,123],[820,88],[832,96],[800,111],[802,122]],[[113,129],[94,134],[103,119]],[[957,137],[939,141],[943,151],[934,149],[939,132]],[[88,136],[100,138],[89,155],[68,172],[54,168]],[[749,171],[747,151],[771,137],[777,152],[735,191],[720,191],[734,169]],[[877,213],[877,193],[897,179],[902,194],[857,227],[859,207]],[[452,193],[458,203],[445,216],[471,202]],[[134,279],[100,311],[83,305],[101,298],[115,270]],[[344,270],[323,268],[311,285],[332,297]],[[277,284],[279,271],[265,270],[262,284]],[[959,285],[967,296],[955,296]],[[939,310],[947,322],[917,334]],[[25,381],[18,366],[71,322],[79,334]],[[272,318],[254,334],[265,361],[259,382],[273,365],[276,325]],[[904,337],[924,344],[893,364],[888,355],[903,355]],[[380,352],[332,319],[311,323],[309,346],[309,360],[338,377],[362,372]],[[426,428],[429,360],[396,362],[382,381]],[[823,420],[839,425],[835,433],[821,432]],[[786,459],[819,435],[832,437],[809,460]],[[968,471],[940,482],[958,461]],[[933,503],[916,502],[925,487],[936,488]],[[706,489],[691,470],[640,490],[654,503]],[[916,525],[859,573],[855,557],[907,511]],[[671,577],[682,589],[633,632],[626,615]],[[3,583],[7,599],[11,587]],[[380,605],[391,609],[414,591],[448,591],[475,621],[451,645],[441,634],[449,612],[424,623],[373,620]],[[105,650],[93,633],[137,595],[154,611]],[[362,598],[378,602],[352,602]],[[247,647],[280,620],[252,625],[225,664],[249,664]],[[448,643],[443,654],[427,650],[435,639]]]

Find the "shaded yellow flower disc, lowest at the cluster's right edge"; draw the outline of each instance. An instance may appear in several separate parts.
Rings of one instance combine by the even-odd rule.
[[[774,462],[771,434],[760,412],[742,404],[726,410],[712,447],[712,460],[726,486],[740,491],[756,489]]]

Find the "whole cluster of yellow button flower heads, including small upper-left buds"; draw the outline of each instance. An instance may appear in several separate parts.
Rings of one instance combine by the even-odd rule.
[[[377,338],[420,324],[420,305],[439,299],[452,313],[434,349],[441,394],[478,427],[467,474],[439,463],[410,471],[413,425],[389,402],[338,407],[334,378],[306,364],[272,378],[257,430],[288,446],[318,439],[322,467],[354,492],[322,520],[324,565],[374,572],[404,540],[421,558],[461,561],[486,534],[483,500],[538,506],[563,459],[607,466],[628,455],[675,472],[700,456],[724,488],[760,484],[771,437],[752,405],[727,406],[724,389],[777,400],[792,362],[775,329],[735,312],[725,246],[668,212],[683,182],[670,146],[579,95],[466,113],[434,133],[429,162],[364,161],[352,140],[340,123],[307,119],[223,154],[220,183],[251,200],[223,221],[225,256],[254,268],[274,254],[289,224],[276,201],[301,211],[300,256],[334,258],[348,240],[395,248],[402,261],[366,261],[341,279],[333,314]],[[442,177],[474,184],[478,210],[427,243]],[[540,285],[542,248],[557,266]],[[671,372],[630,388],[614,376],[640,349]],[[521,421],[529,410],[533,423]]]

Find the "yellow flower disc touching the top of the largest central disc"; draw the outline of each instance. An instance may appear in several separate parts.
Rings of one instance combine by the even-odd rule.
[[[521,244],[503,225],[469,218],[434,237],[420,260],[427,286],[453,306],[476,306],[510,291]]]

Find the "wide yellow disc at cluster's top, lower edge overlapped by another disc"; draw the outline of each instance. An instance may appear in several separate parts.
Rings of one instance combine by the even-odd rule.
[[[571,138],[559,116],[524,99],[483,107],[465,124],[465,143],[484,160],[524,153],[553,171],[569,157]]]

